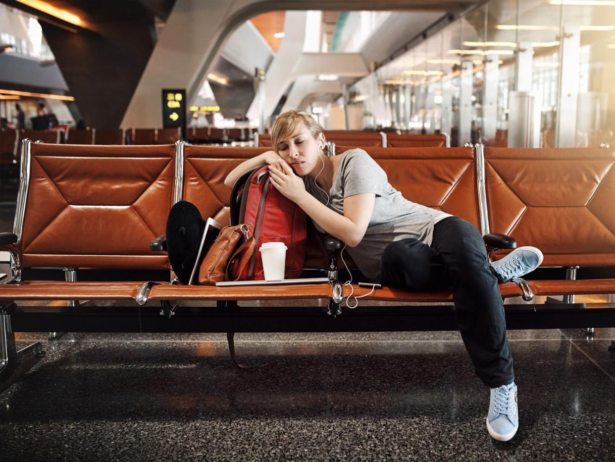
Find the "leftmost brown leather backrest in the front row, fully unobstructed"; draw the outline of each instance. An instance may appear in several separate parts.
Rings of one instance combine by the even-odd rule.
[[[24,267],[167,269],[175,146],[31,144]]]

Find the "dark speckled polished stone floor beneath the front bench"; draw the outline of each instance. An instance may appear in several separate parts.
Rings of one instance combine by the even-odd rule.
[[[18,334],[0,460],[613,460],[615,329],[509,331],[520,429],[488,435],[459,333]]]

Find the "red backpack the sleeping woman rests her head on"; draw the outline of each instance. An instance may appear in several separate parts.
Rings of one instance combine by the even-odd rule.
[[[284,197],[269,178],[269,166],[243,174],[231,192],[230,224],[250,225],[248,237],[256,240],[256,249],[239,280],[263,280],[260,247],[264,242],[284,242],[287,246],[284,278],[297,278],[306,257],[306,214]],[[237,264],[237,262],[236,262]],[[234,274],[237,268],[234,267]]]

